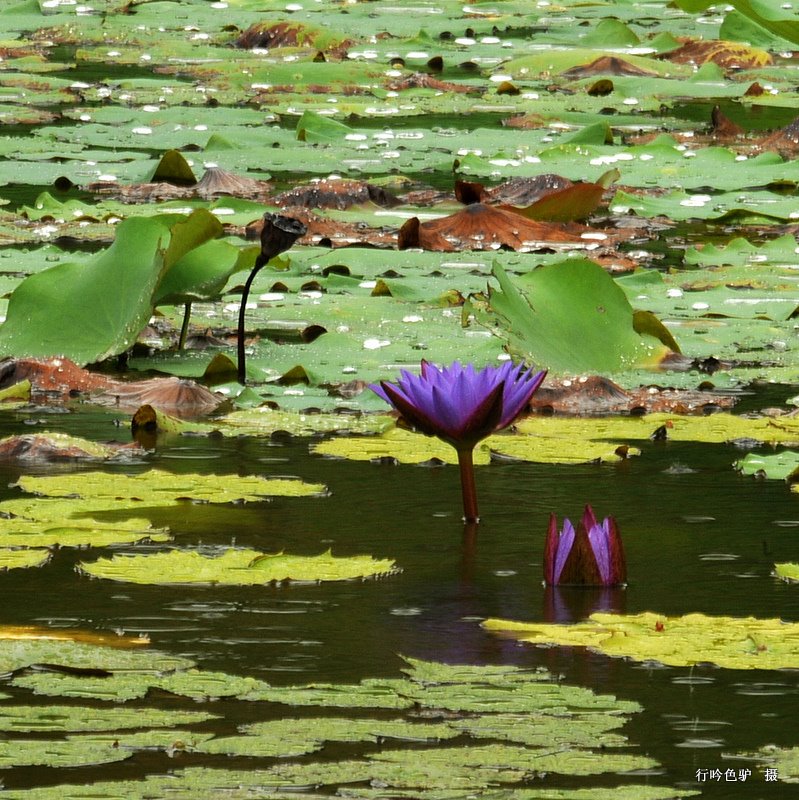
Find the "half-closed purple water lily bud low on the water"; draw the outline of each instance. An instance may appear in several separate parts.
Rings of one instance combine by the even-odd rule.
[[[621,534],[613,517],[599,523],[586,506],[577,528],[568,519],[558,531],[554,514],[544,549],[544,580],[550,586],[617,586],[627,580]]]

